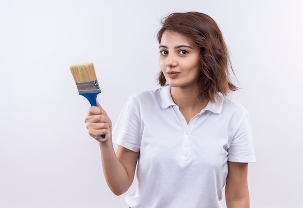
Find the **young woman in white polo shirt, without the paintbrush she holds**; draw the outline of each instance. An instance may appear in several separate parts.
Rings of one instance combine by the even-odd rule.
[[[158,41],[162,88],[131,96],[113,133],[100,105],[88,111],[109,188],[126,192],[137,165],[131,208],[219,208],[224,185],[227,208],[249,208],[251,127],[248,112],[227,98],[238,88],[222,33],[210,16],[174,13]]]

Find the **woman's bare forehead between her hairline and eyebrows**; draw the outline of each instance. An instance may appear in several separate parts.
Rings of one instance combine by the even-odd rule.
[[[187,36],[179,32],[166,30],[163,32],[160,45],[188,45],[191,47],[196,46],[196,44]]]

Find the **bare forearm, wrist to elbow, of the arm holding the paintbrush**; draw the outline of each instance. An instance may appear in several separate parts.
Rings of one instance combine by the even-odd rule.
[[[118,160],[111,140],[99,143],[104,176],[110,190],[116,195],[126,192],[133,178],[128,176],[126,169]]]

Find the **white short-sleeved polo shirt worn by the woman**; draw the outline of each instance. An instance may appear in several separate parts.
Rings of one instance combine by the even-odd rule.
[[[131,208],[219,208],[227,160],[254,162],[248,112],[237,102],[209,102],[187,124],[170,87],[131,96],[113,141],[139,152]]]

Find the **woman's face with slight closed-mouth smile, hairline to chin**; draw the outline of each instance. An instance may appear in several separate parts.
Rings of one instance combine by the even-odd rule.
[[[165,31],[159,46],[159,65],[171,87],[197,88],[200,50],[188,37]]]

